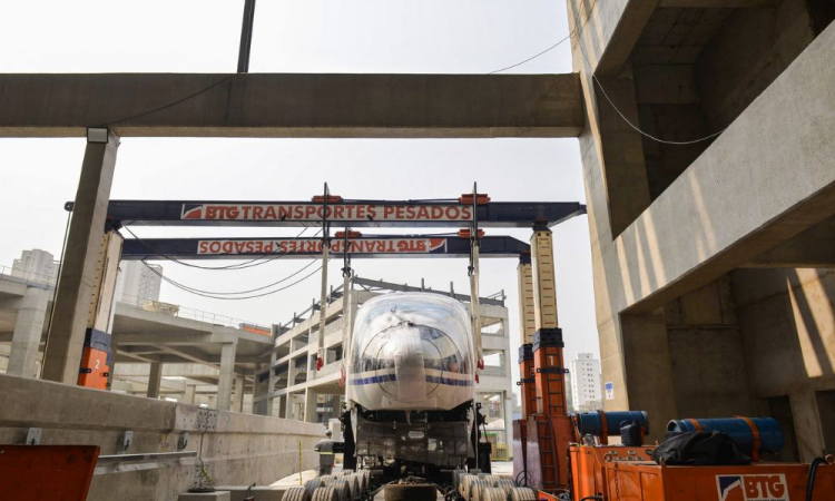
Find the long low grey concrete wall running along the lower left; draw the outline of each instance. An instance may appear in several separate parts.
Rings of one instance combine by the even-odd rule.
[[[299,441],[303,468],[313,468],[322,434],[322,425],[4,375],[0,395],[0,443],[22,444],[35,426],[42,429],[42,444],[96,444],[102,455],[159,453],[178,451],[187,432],[185,451],[202,450],[209,475],[223,485],[268,484],[296,472]],[[134,442],[119,451],[125,431],[134,432]],[[97,468],[90,501],[175,501],[193,485],[198,461],[110,464]]]

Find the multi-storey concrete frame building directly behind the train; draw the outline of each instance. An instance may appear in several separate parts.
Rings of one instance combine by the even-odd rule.
[[[315,370],[318,326],[322,308],[318,303],[296,314],[286,326],[277,327],[271,363],[257,372],[255,412],[307,422],[326,423],[342,412],[345,389],[340,386],[343,340],[347,337],[345,318],[354,318],[357,308],[372,297],[396,291],[424,291],[449,295],[442,291],[353,277],[350,293],[343,286],[332,291],[325,308],[325,365]],[[456,295],[470,307],[469,295]],[[512,435],[512,381],[510,375],[510,332],[504,299],[480,299],[482,347],[485,367],[475,386],[477,402],[484,409],[488,422],[503,420],[504,435]],[[304,318],[306,316],[306,318]]]

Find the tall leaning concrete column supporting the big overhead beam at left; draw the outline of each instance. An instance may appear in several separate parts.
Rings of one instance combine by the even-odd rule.
[[[118,147],[112,132],[106,144],[87,143],[43,356],[48,381],[78,382]]]

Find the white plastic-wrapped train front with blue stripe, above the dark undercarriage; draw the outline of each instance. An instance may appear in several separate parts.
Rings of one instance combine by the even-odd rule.
[[[348,407],[449,411],[473,400],[470,317],[454,298],[394,293],[365,302],[348,356]]]

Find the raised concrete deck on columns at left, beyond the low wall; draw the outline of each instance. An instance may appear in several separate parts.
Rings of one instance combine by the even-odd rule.
[[[0,353],[8,356],[0,370],[38,376],[52,294],[48,277],[0,274],[0,347],[11,343]],[[111,389],[229,410],[232,381],[243,380],[235,392],[243,389],[250,394],[256,364],[273,344],[271,336],[240,328],[240,324],[252,325],[165,303],[117,302]],[[218,392],[226,396],[218,397]],[[243,400],[235,402],[242,409]]]

